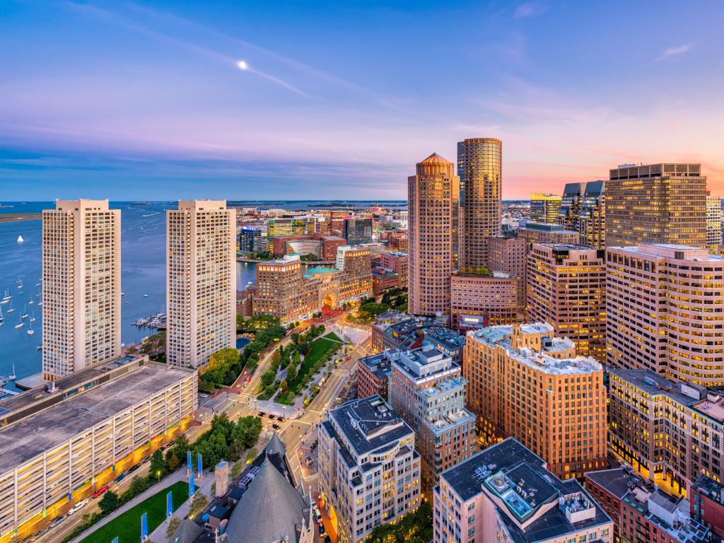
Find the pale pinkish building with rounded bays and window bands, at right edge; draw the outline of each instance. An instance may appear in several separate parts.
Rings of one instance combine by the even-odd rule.
[[[724,258],[683,245],[606,251],[607,363],[724,386]]]

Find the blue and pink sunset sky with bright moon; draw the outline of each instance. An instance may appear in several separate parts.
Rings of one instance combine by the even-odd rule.
[[[503,141],[503,198],[701,162],[724,2],[0,1],[0,201],[404,199]]]

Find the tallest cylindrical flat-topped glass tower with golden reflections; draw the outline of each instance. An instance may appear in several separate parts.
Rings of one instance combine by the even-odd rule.
[[[464,235],[460,268],[488,266],[488,238],[500,234],[502,141],[468,138],[458,142],[458,177]]]

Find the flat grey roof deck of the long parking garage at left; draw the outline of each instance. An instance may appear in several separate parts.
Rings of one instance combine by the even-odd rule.
[[[147,363],[134,371],[0,429],[0,473],[41,455],[188,376],[190,371]],[[26,392],[35,395],[38,391]]]

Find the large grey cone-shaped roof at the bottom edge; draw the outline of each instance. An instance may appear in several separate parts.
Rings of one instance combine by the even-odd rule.
[[[298,541],[297,527],[309,505],[277,468],[264,459],[227,525],[229,543]]]

